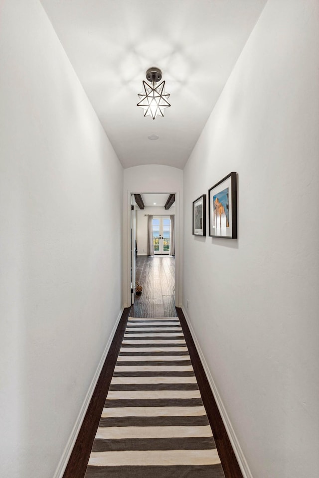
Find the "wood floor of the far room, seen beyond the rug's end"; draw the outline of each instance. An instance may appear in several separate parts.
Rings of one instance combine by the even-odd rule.
[[[176,317],[175,257],[138,256],[136,280],[143,287],[135,295],[132,317]]]

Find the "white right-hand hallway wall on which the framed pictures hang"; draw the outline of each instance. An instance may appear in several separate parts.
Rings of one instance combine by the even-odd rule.
[[[317,0],[269,0],[184,169],[184,304],[254,478],[319,476],[318,45]],[[231,171],[239,239],[192,236]]]

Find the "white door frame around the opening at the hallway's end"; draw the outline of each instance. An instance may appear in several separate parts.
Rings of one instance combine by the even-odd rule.
[[[124,307],[131,307],[131,197],[132,194],[175,194],[175,307],[182,306],[182,240],[180,193],[174,191],[127,191],[124,217]],[[168,214],[169,216],[169,214]]]

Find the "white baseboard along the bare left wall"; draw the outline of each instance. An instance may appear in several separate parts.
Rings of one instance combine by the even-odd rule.
[[[66,466],[67,466],[68,461],[70,459],[70,456],[71,456],[72,450],[74,448],[77,436],[79,434],[79,431],[80,431],[81,425],[83,423],[86,411],[87,411],[88,406],[90,404],[93,392],[95,390],[97,381],[99,379],[99,376],[100,376],[103,364],[105,362],[106,356],[108,355],[110,346],[112,344],[112,341],[113,341],[117,326],[119,325],[119,322],[120,322],[123,311],[124,311],[124,307],[122,307],[122,309],[121,309],[121,311],[118,315],[118,318],[116,319],[116,322],[114,324],[114,327],[113,327],[111,335],[110,335],[110,338],[109,338],[109,340],[106,344],[106,347],[105,347],[104,352],[102,354],[101,360],[98,364],[98,367],[96,369],[96,372],[94,374],[92,382],[89,386],[89,389],[88,389],[88,392],[87,392],[86,397],[84,399],[84,402],[83,402],[83,405],[81,407],[80,413],[78,415],[78,418],[76,419],[76,422],[74,424],[73,430],[72,430],[71,435],[70,435],[70,438],[67,441],[67,444],[65,446],[64,452],[63,452],[62,457],[61,457],[61,460],[60,460],[60,462],[57,466],[57,469],[56,469],[56,471],[53,475],[53,478],[62,478],[63,477],[63,474],[65,472]]]

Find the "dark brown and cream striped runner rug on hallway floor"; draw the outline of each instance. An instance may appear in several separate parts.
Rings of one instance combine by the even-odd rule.
[[[224,478],[178,317],[129,317],[85,478]]]

